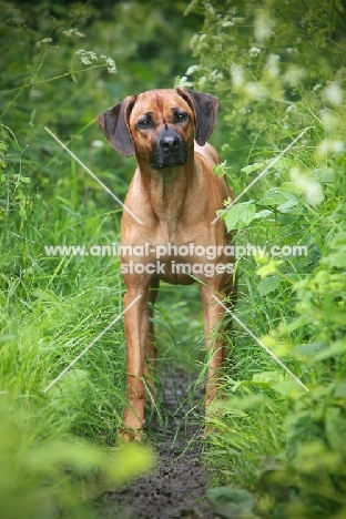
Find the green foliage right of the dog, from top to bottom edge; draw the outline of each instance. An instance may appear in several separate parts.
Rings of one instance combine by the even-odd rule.
[[[180,83],[220,96],[224,173],[235,195],[252,184],[223,216],[245,251],[236,315],[305,385],[235,325],[227,399],[210,418],[215,484],[253,489],[256,517],[342,518],[345,7],[195,0],[190,9],[205,22],[192,41],[199,63]]]

